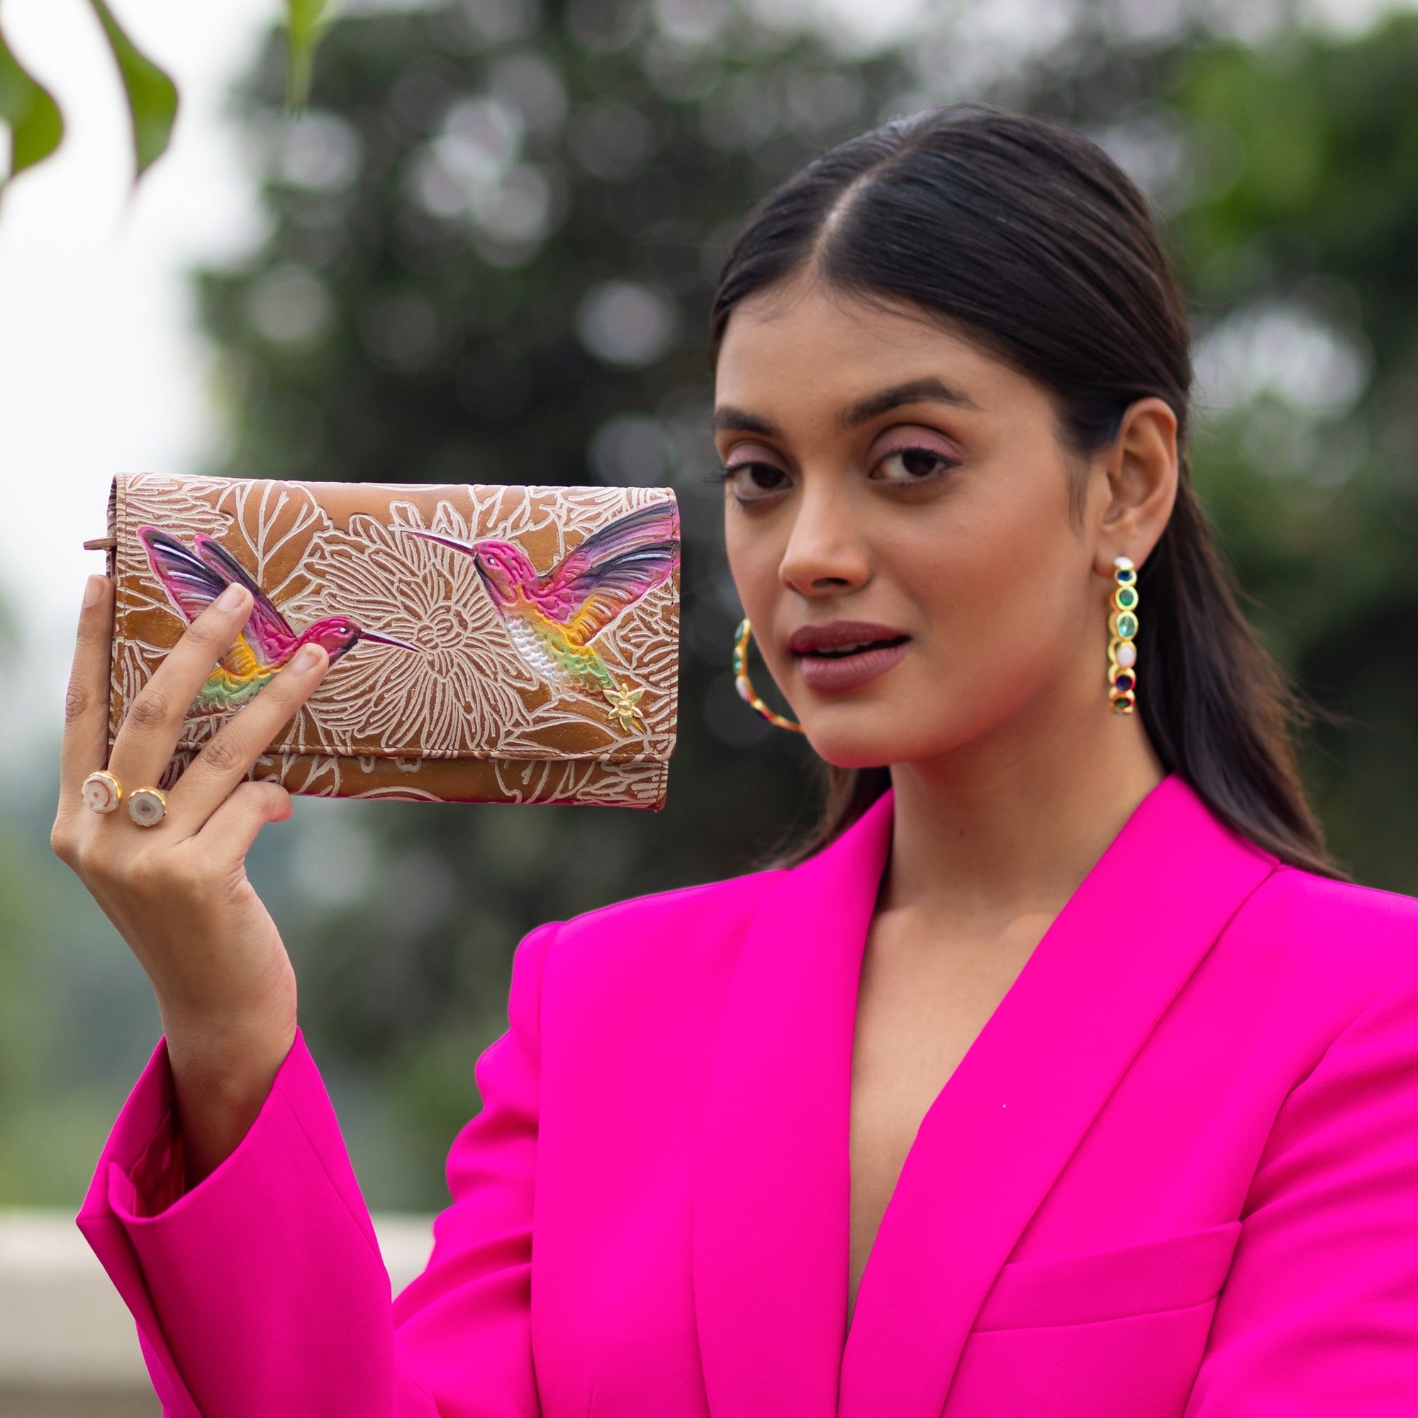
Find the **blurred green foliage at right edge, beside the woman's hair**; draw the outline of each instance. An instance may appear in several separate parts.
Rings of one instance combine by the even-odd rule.
[[[1229,184],[1177,218],[1212,339],[1255,396],[1198,472],[1258,618],[1322,706],[1307,777],[1361,881],[1418,891],[1418,20],[1190,57],[1173,89]],[[1228,313],[1229,312],[1229,313]],[[1256,339],[1255,319],[1272,320]],[[1329,347],[1326,349],[1326,340]]]

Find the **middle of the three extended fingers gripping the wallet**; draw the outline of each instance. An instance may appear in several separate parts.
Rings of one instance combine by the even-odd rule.
[[[233,583],[184,631],[133,696],[109,767],[125,791],[153,784],[177,747],[182,722],[217,661],[251,613],[251,593]]]

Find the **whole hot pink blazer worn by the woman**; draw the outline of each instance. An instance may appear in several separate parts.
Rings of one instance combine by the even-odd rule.
[[[847,1330],[891,813],[527,936],[393,1303],[303,1045],[186,1195],[159,1049],[79,1225],[169,1418],[1418,1414],[1418,903],[1278,866],[1177,778],[936,1099]]]

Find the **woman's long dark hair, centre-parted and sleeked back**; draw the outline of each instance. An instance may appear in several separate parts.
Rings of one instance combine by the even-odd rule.
[[[740,301],[805,267],[950,320],[1052,393],[1078,454],[1109,444],[1147,396],[1177,414],[1185,448],[1185,302],[1147,199],[1078,133],[954,105],[834,147],[749,216],[719,277],[715,354]],[[1236,605],[1185,452],[1139,590],[1137,703],[1163,764],[1256,845],[1340,875],[1296,769],[1296,699]],[[838,837],[889,783],[886,769],[830,767],[822,817],[790,859]]]

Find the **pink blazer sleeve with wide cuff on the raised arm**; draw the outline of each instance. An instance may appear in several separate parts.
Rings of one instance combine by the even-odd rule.
[[[482,1112],[448,1161],[425,1272],[390,1297],[319,1072],[296,1038],[261,1113],[182,1191],[159,1045],[78,1224],[138,1323],[166,1418],[533,1418],[532,1204],[543,926],[518,947]]]

